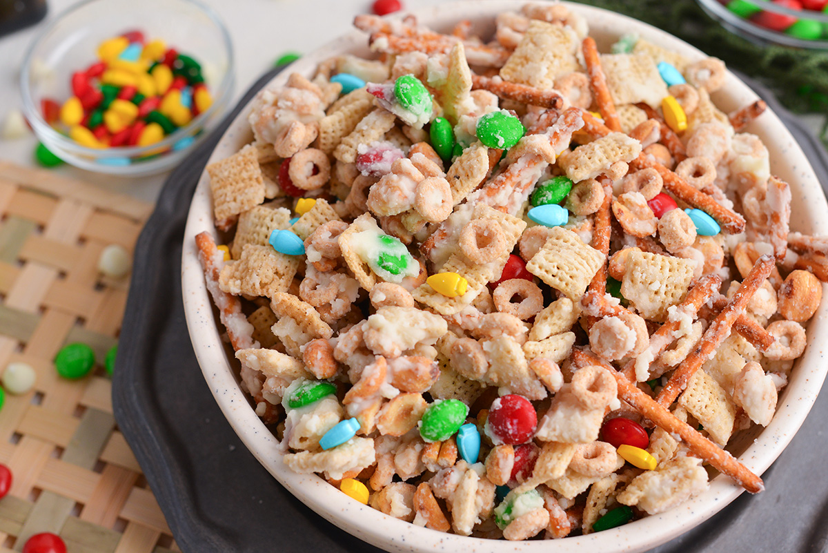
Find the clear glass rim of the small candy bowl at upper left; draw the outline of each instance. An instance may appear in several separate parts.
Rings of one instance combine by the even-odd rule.
[[[221,35],[222,43],[224,44],[224,50],[227,54],[228,59],[228,66],[227,70],[224,71],[224,77],[221,79],[219,86],[215,89],[213,93],[214,101],[212,105],[205,111],[204,113],[199,113],[198,116],[193,118],[190,123],[187,123],[184,127],[179,127],[176,129],[175,132],[172,134],[164,137],[161,141],[151,144],[149,146],[131,146],[131,147],[108,147],[108,148],[89,148],[85,146],[81,146],[74,140],[66,137],[64,134],[57,132],[49,123],[41,116],[41,110],[37,107],[33,97],[31,87],[29,85],[30,82],[30,75],[31,75],[31,63],[33,61],[33,57],[35,55],[35,50],[37,46],[40,46],[41,41],[43,41],[46,36],[48,36],[51,31],[55,29],[56,26],[59,26],[61,22],[65,20],[66,17],[69,17],[75,12],[79,12],[80,10],[89,7],[91,4],[95,3],[103,3],[107,2],[107,0],[83,0],[82,2],[78,2],[71,7],[66,8],[64,11],[60,12],[54,20],[52,20],[49,25],[41,29],[41,31],[31,40],[29,45],[26,47],[26,53],[23,55],[22,61],[22,69],[20,72],[20,89],[21,95],[23,100],[23,112],[26,114],[26,119],[31,124],[32,129],[35,131],[38,137],[41,137],[41,142],[50,142],[53,144],[59,145],[62,150],[69,152],[73,156],[84,156],[90,157],[93,160],[111,160],[111,159],[119,159],[123,157],[132,157],[132,156],[141,156],[142,154],[147,154],[149,152],[154,152],[156,150],[163,150],[166,148],[172,148],[176,142],[179,142],[185,137],[194,136],[193,129],[198,127],[205,127],[205,123],[209,122],[216,113],[219,113],[223,108],[224,104],[226,103],[226,99],[232,94],[233,91],[233,81],[234,81],[234,61],[233,61],[233,40],[230,37],[230,32],[224,22],[222,21],[221,17],[219,17],[218,12],[212,7],[209,7],[200,0],[176,0],[177,2],[181,2],[184,4],[190,4],[190,6],[195,7],[196,9],[203,12],[207,17],[209,17],[210,21],[214,23],[216,28],[219,29],[219,34]],[[181,150],[184,151],[184,150]],[[147,160],[152,161],[152,160]],[[118,169],[125,169],[123,167],[118,166],[108,166],[105,164],[102,165],[103,172],[123,172],[123,171],[114,171]],[[140,166],[142,164],[132,164],[133,167]],[[150,168],[150,172],[152,172],[153,168]],[[127,173],[130,171],[126,171]]]

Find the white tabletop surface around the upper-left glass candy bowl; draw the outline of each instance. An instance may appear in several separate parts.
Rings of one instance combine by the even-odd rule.
[[[140,2],[140,0],[136,0]],[[20,66],[26,48],[48,22],[60,15],[74,0],[47,0],[49,13],[36,26],[0,38],[0,124],[11,109],[22,110]],[[213,7],[233,37],[236,88],[235,105],[250,84],[271,68],[274,60],[288,50],[308,53],[351,28],[354,15],[371,11],[371,0],[201,0]],[[439,0],[407,0],[409,7],[440,3]],[[113,29],[113,35],[120,31]],[[160,38],[163,38],[162,36]],[[198,52],[194,52],[197,56]],[[94,53],[90,52],[90,62]],[[69,83],[66,84],[67,88]],[[33,134],[17,140],[0,138],[0,159],[23,166],[36,166]],[[108,190],[156,199],[166,174],[141,178],[118,178],[60,166],[66,176],[94,182]]]

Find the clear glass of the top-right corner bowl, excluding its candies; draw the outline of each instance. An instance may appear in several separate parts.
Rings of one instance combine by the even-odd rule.
[[[750,3],[767,12],[782,13],[793,16],[797,19],[806,19],[820,23],[823,28],[823,37],[820,40],[808,41],[797,36],[787,35],[784,32],[771,31],[763,26],[758,26],[749,19],[743,19],[734,12],[731,12],[724,4],[717,0],[697,0],[707,15],[720,22],[728,31],[731,31],[743,38],[760,45],[776,44],[782,46],[793,46],[796,48],[807,48],[810,50],[828,50],[828,14],[815,12],[813,10],[793,10],[790,7],[780,6],[766,0],[749,0]]]

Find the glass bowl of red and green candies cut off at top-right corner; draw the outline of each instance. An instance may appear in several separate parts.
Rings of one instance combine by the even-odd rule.
[[[828,50],[828,0],[698,0],[729,31],[759,44]]]

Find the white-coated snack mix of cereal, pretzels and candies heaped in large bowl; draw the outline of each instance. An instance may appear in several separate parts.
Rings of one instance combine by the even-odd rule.
[[[392,517],[561,538],[664,512],[767,426],[828,278],[790,186],[723,113],[724,64],[566,7],[449,34],[360,15],[253,100],[196,241],[241,386],[318,473]],[[485,37],[484,37],[485,38]],[[715,469],[715,470],[714,470]]]

